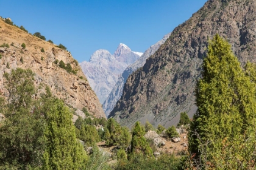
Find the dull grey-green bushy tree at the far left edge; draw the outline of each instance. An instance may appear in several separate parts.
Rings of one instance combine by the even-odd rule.
[[[0,169],[23,169],[41,165],[44,150],[40,104],[35,95],[34,73],[16,69],[5,73],[7,104],[1,104],[4,121],[0,124]]]

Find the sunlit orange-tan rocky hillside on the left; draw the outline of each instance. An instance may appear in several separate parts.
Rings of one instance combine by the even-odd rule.
[[[71,53],[17,27],[5,24],[2,19],[0,25],[0,44],[10,46],[0,47],[0,95],[8,95],[4,87],[4,73],[9,73],[17,67],[31,69],[35,73],[36,86],[49,86],[52,94],[63,99],[69,107],[86,107],[91,115],[105,117],[101,103]],[[26,49],[21,47],[22,43],[26,44]],[[44,52],[41,52],[42,48]],[[69,63],[72,69],[77,71],[76,75],[54,64],[55,60]]]

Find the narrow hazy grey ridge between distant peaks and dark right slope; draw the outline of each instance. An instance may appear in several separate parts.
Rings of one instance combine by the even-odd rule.
[[[167,35],[163,36],[163,38],[160,41],[149,47],[149,49],[146,50],[135,63],[128,66],[124,70],[124,72],[118,77],[115,86],[112,88],[112,91],[102,104],[102,107],[107,117],[113,110],[116,102],[121,98],[124,89],[124,83],[126,82],[129,75],[138,68],[142,67],[146,63],[146,59],[158,50],[158,48],[166,41],[169,35],[171,35],[171,33],[168,33]]]

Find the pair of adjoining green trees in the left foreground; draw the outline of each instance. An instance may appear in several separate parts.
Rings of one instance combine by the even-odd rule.
[[[8,98],[0,98],[0,169],[79,169],[85,151],[76,139],[72,114],[63,101],[38,98],[31,70],[5,73]],[[37,97],[37,98],[35,98]]]

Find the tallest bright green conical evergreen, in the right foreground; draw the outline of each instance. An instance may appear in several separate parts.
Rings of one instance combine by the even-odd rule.
[[[189,135],[194,166],[204,169],[249,169],[255,166],[256,86],[253,69],[247,64],[244,72],[229,43],[218,35],[209,42],[202,78],[196,86],[198,109]]]

